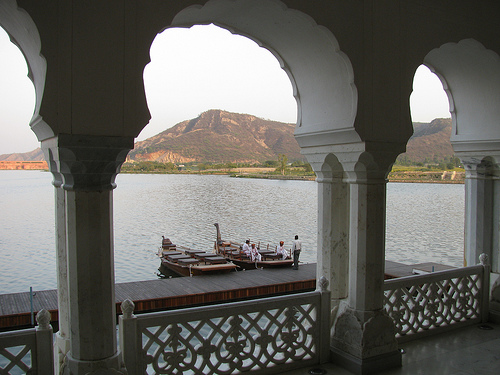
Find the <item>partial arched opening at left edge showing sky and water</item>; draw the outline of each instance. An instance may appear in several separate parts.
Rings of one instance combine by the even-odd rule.
[[[39,142],[30,128],[36,105],[26,59],[0,27],[0,191],[2,215],[0,294],[56,287],[54,197],[52,176],[19,163],[14,153],[41,159]],[[20,170],[23,169],[23,170]],[[24,170],[26,169],[26,170]],[[36,213],[36,214],[35,214]],[[36,243],[36,255],[34,254]],[[40,260],[43,261],[40,261]]]

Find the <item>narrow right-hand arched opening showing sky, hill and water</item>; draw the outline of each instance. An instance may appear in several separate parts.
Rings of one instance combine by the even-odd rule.
[[[438,76],[421,65],[410,97],[414,133],[390,174],[397,183],[387,188],[389,260],[463,265],[464,172],[450,143],[448,100]]]

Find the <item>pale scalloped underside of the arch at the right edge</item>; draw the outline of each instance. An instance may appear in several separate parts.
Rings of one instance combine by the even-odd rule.
[[[472,151],[478,142],[498,142],[498,54],[474,39],[465,39],[430,51],[424,64],[439,77],[448,95],[453,126],[451,141],[455,151]]]

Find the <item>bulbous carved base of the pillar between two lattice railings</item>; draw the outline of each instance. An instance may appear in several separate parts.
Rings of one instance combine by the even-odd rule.
[[[341,303],[330,349],[333,362],[355,374],[401,367],[394,322],[383,311],[356,311]]]

